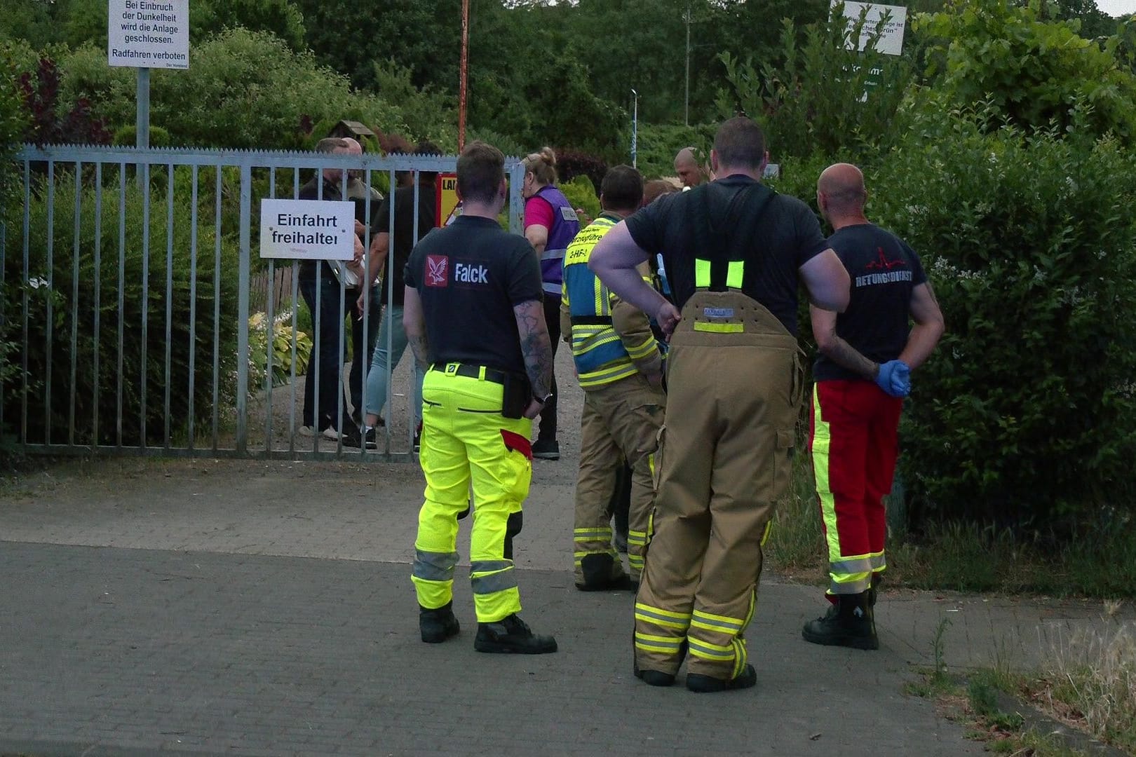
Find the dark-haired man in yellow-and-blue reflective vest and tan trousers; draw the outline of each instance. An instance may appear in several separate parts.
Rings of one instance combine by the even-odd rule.
[[[654,498],[654,449],[667,402],[662,353],[646,314],[613,296],[587,268],[595,244],[638,210],[642,200],[643,177],[637,170],[630,166],[609,170],[600,185],[602,212],[576,235],[565,255],[560,333],[571,347],[584,389],[573,531],[576,588],[583,591],[638,584]],[[643,268],[650,277],[650,269]],[[610,510],[625,460],[632,469],[630,577],[612,546]]]

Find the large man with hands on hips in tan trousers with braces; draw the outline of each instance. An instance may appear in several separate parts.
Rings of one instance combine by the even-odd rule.
[[[635,674],[652,685],[674,683],[687,653],[692,691],[757,682],[744,631],[761,544],[790,479],[804,384],[799,280],[818,308],[849,301],[847,272],[812,211],[760,184],[767,161],[758,125],[727,120],[711,152],[721,178],[623,221],[588,263],[671,335],[653,533],[635,602]],[[660,252],[682,312],[636,269]]]

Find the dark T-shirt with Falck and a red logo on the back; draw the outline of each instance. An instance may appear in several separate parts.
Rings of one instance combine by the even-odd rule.
[[[541,301],[541,266],[525,237],[459,216],[418,243],[403,276],[421,297],[431,362],[525,372],[513,306]]]

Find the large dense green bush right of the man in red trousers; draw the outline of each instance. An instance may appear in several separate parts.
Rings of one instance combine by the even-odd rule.
[[[992,112],[920,115],[869,176],[947,326],[901,470],[917,521],[1060,531],[1133,507],[1136,160],[1079,118],[1062,138]]]

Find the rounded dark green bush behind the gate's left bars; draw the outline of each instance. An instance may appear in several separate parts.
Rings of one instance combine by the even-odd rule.
[[[87,168],[80,191],[81,219],[77,244],[78,272],[76,266],[76,188],[74,174],[57,168],[53,196],[53,226],[50,238],[52,256],[48,259],[48,197],[44,187],[36,186],[28,204],[30,268],[28,278],[47,281],[52,294],[52,317],[49,319],[43,303],[32,306],[27,313],[28,336],[24,345],[23,359],[27,361],[28,376],[40,381],[27,396],[28,441],[43,438],[43,419],[50,415],[51,439],[65,438],[74,403],[75,443],[116,443],[115,419],[117,415],[117,392],[122,387],[122,440],[137,444],[142,436],[144,419],[148,443],[160,441],[168,420],[172,432],[184,431],[191,423],[211,418],[212,355],[216,348],[220,364],[216,382],[219,402],[232,402],[235,389],[236,358],[236,285],[237,251],[234,244],[224,242],[220,260],[216,254],[216,237],[211,218],[203,216],[198,222],[197,253],[197,300],[195,312],[191,316],[191,216],[187,202],[177,202],[173,218],[173,260],[167,261],[166,200],[162,192],[152,192],[150,201],[148,259],[143,254],[144,210],[143,197],[137,183],[127,177],[126,202],[122,216],[125,218],[125,245],[119,260],[119,187],[117,176],[103,177],[101,227],[98,239],[100,259],[95,252],[95,199],[98,190],[91,186],[93,171]],[[9,215],[9,228],[11,216]],[[219,263],[220,278],[215,279]],[[18,280],[22,276],[20,256],[9,255],[5,260],[5,280]],[[119,279],[119,266],[123,278]],[[172,268],[170,268],[172,266]],[[143,275],[143,268],[148,274]],[[172,274],[170,292],[167,295],[167,270]],[[97,284],[98,281],[98,284]],[[215,281],[220,285],[220,298],[215,297]],[[119,286],[123,302],[118,302]],[[95,304],[98,296],[98,304]],[[143,305],[143,297],[145,304]],[[215,320],[214,309],[219,306],[219,318]],[[169,313],[167,314],[167,308]],[[94,338],[95,311],[100,320],[98,339]],[[142,325],[145,313],[147,334],[143,339]],[[19,313],[20,323],[23,314]],[[75,350],[72,350],[72,334],[75,325]],[[123,348],[118,347],[119,323],[123,328]],[[195,326],[195,342],[191,340],[191,325]],[[169,328],[169,339],[166,329]],[[215,337],[216,329],[216,337]],[[50,340],[50,350],[48,344]],[[193,364],[193,418],[190,404],[190,345],[194,345]],[[169,378],[167,381],[166,360],[169,353]],[[143,359],[144,354],[144,359]],[[50,358],[50,370],[48,368]],[[95,359],[98,373],[95,373]],[[119,360],[122,372],[119,373]],[[75,378],[72,378],[72,364]],[[47,389],[50,385],[50,395]],[[169,392],[169,413],[165,409],[165,393]],[[142,395],[145,393],[145,412],[142,412]],[[18,418],[22,392],[12,381],[3,386],[5,418]],[[99,415],[98,438],[93,429],[95,411]]]

